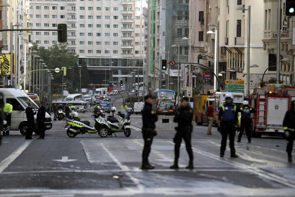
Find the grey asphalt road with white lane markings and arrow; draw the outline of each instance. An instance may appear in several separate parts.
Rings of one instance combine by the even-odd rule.
[[[90,115],[80,118],[93,125]],[[155,169],[143,171],[142,118],[133,115],[131,121],[130,137],[118,133],[70,138],[65,121],[54,121],[44,140],[25,140],[12,131],[0,147],[0,196],[294,196],[295,165],[287,162],[282,138],[263,136],[248,144],[243,136],[235,143],[239,158],[230,158],[229,149],[220,158],[216,128],[209,136],[207,125],[194,124],[194,170],[185,169],[184,144],[180,169],[170,170],[175,132],[159,131],[150,154]],[[157,127],[164,125],[158,122]]]

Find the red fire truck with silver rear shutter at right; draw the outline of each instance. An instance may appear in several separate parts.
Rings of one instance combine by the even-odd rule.
[[[294,99],[295,87],[266,84],[264,88],[255,88],[249,98],[249,105],[256,110],[253,137],[261,137],[261,134],[284,136],[283,119]]]

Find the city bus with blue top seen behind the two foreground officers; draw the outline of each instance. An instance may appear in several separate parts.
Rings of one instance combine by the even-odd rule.
[[[174,115],[176,108],[175,91],[157,89],[153,92],[154,104],[153,110],[156,114]]]

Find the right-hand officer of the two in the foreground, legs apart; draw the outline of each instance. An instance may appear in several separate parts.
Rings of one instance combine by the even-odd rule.
[[[191,121],[193,119],[193,110],[189,107],[188,102],[189,99],[187,97],[181,98],[181,107],[178,109],[174,117],[174,122],[178,122],[178,127],[176,127],[177,132],[173,139],[175,143],[175,159],[174,165],[170,166],[171,169],[178,169],[179,148],[182,138],[186,144],[186,151],[189,154],[189,165],[186,167],[186,169],[194,168],[194,155],[193,151],[191,150],[191,132],[193,130]]]

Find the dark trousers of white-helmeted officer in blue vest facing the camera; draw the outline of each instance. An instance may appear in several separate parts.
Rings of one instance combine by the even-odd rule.
[[[230,154],[235,155],[235,134],[236,134],[236,128],[235,124],[232,122],[222,122],[221,125],[221,146],[220,146],[220,154],[224,155],[225,149],[226,149],[226,141],[227,141],[227,135],[230,138]]]

